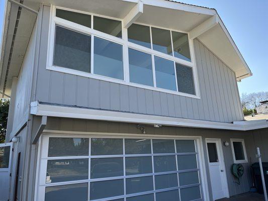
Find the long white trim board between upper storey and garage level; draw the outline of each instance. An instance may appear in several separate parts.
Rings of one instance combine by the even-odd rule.
[[[87,108],[55,106],[48,104],[40,104],[38,102],[31,103],[31,114],[37,116],[48,116],[48,117],[63,117],[63,118],[101,120],[101,121],[137,123],[137,124],[152,124],[152,125],[159,124],[165,126],[226,129],[226,130],[237,130],[237,131],[268,128],[268,123],[266,120],[263,121],[256,120],[250,122],[243,121],[239,123],[234,122],[234,124],[232,124],[232,123],[174,118],[174,117],[95,110]]]

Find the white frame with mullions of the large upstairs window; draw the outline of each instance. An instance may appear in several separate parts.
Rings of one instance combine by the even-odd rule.
[[[91,15],[92,28],[88,28],[88,27],[73,23],[71,21],[67,21],[67,20],[64,20],[64,19],[56,17],[56,9],[67,10],[67,11],[72,11],[72,12]],[[184,32],[184,31],[180,31],[180,30],[166,29],[166,30],[170,31],[170,35],[171,35],[171,31],[176,31],[176,32],[181,32],[181,33],[187,33],[188,34],[189,48],[190,48],[190,54],[191,54],[191,62],[172,56],[173,51],[172,51],[172,55],[168,55],[168,54],[158,52],[158,51],[150,49],[150,48],[143,47],[141,45],[137,45],[135,43],[128,42],[127,29],[123,27],[123,22],[122,22],[122,39],[118,38],[118,37],[115,37],[115,36],[112,36],[112,35],[109,35],[109,34],[106,34],[106,33],[103,33],[103,32],[100,32],[100,31],[97,31],[97,30],[94,30],[93,29],[93,18],[94,18],[94,16],[99,16],[99,17],[113,19],[113,20],[117,20],[117,21],[122,22],[122,19],[111,18],[111,17],[107,17],[107,16],[101,16],[101,15],[96,15],[96,14],[92,14],[92,13],[87,13],[87,12],[82,12],[82,11],[77,11],[77,10],[72,10],[72,9],[66,9],[66,8],[62,8],[62,7],[51,6],[51,8],[50,8],[50,25],[49,25],[49,38],[48,38],[48,51],[47,51],[46,69],[54,70],[54,71],[58,71],[58,72],[63,72],[63,73],[79,75],[79,76],[83,76],[83,77],[90,77],[90,78],[100,79],[100,80],[104,80],[104,81],[115,82],[115,83],[119,83],[119,84],[125,84],[125,85],[139,87],[139,88],[145,88],[145,89],[160,91],[160,92],[183,95],[183,96],[197,98],[197,99],[201,98],[200,97],[200,89],[199,89],[199,81],[198,81],[198,73],[197,73],[197,68],[196,68],[196,59],[195,59],[195,53],[194,53],[193,39],[189,38],[189,33],[188,32]],[[78,70],[74,70],[74,69],[69,69],[69,68],[64,68],[64,67],[53,65],[53,52],[54,52],[54,40],[55,40],[55,27],[56,27],[56,24],[61,26],[61,27],[65,27],[67,29],[71,29],[73,31],[77,31],[77,32],[80,32],[80,33],[83,33],[83,34],[91,36],[91,73],[82,72],[82,71],[78,71]],[[165,29],[165,28],[162,28],[162,27],[150,26],[150,25],[136,23],[136,22],[135,22],[135,24],[140,24],[140,25],[145,25],[145,26],[150,27],[151,44],[152,44],[151,27]],[[111,42],[118,43],[118,44],[122,45],[123,70],[124,70],[124,72],[123,72],[124,79],[123,80],[94,74],[94,58],[93,58],[93,55],[94,55],[94,37],[92,37],[92,36],[94,36],[94,37],[96,36],[96,37],[99,37],[99,38],[102,38],[102,39],[105,39],[105,40],[108,40],[108,41],[111,41]],[[172,37],[171,37],[171,42],[172,42]],[[173,44],[172,44],[172,47],[173,47]],[[147,86],[147,85],[133,83],[133,82],[129,81],[128,48],[132,48],[132,49],[135,49],[135,50],[150,54],[152,56],[152,68],[153,68],[152,70],[153,70],[153,81],[154,81],[153,83],[154,83],[154,86]],[[173,91],[173,90],[169,90],[169,89],[156,87],[155,69],[154,69],[154,55],[158,56],[158,57],[162,57],[164,59],[171,60],[171,61],[174,62],[176,90],[177,90],[177,76],[176,76],[176,70],[175,70],[175,63],[179,63],[179,64],[182,64],[182,65],[191,67],[192,71],[193,71],[195,94],[189,94],[189,93],[184,93],[184,92]]]

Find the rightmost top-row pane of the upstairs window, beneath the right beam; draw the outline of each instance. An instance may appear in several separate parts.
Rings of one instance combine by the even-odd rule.
[[[186,61],[191,61],[188,34],[172,31],[174,56]]]

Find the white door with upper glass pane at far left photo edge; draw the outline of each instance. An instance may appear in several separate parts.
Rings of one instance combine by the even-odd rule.
[[[9,199],[12,142],[0,144],[0,201]]]

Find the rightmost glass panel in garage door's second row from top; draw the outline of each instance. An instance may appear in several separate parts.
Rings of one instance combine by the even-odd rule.
[[[177,155],[178,170],[197,169],[196,155]]]

